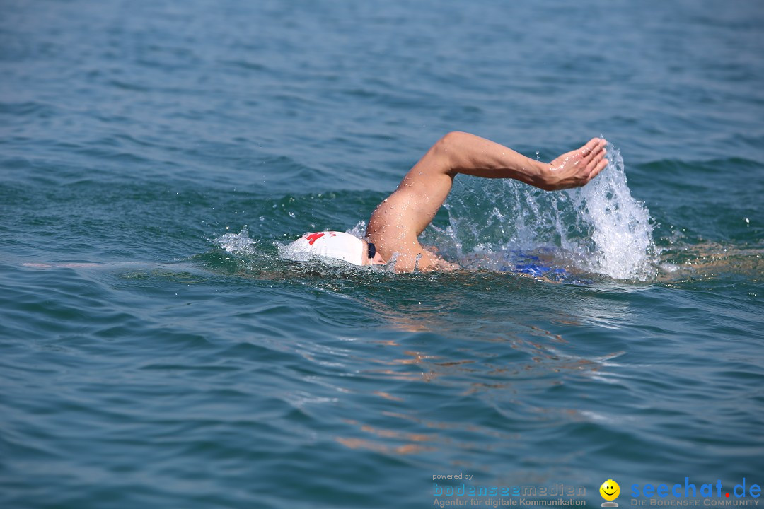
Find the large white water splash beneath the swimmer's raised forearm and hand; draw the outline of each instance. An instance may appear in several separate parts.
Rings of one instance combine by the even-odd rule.
[[[448,227],[430,240],[470,268],[496,269],[518,252],[615,279],[653,279],[656,245],[645,205],[626,184],[620,151],[584,188],[543,192],[511,180],[457,179]],[[479,255],[479,256],[476,256]],[[480,260],[480,261],[477,261]]]

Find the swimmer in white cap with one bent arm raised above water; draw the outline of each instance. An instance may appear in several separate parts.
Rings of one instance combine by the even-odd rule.
[[[366,239],[342,232],[317,232],[303,235],[290,244],[290,249],[361,266],[394,259],[396,272],[458,269],[458,264],[422,247],[419,234],[443,205],[459,173],[485,179],[516,179],[545,191],[581,187],[607,166],[606,144],[606,140],[592,138],[580,149],[542,163],[474,134],[448,133],[377,206]]]

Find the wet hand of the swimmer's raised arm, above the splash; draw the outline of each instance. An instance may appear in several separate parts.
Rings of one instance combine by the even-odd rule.
[[[592,138],[580,149],[562,154],[549,163],[543,175],[543,182],[534,185],[545,191],[586,185],[607,166],[605,145],[607,145],[606,140]]]

